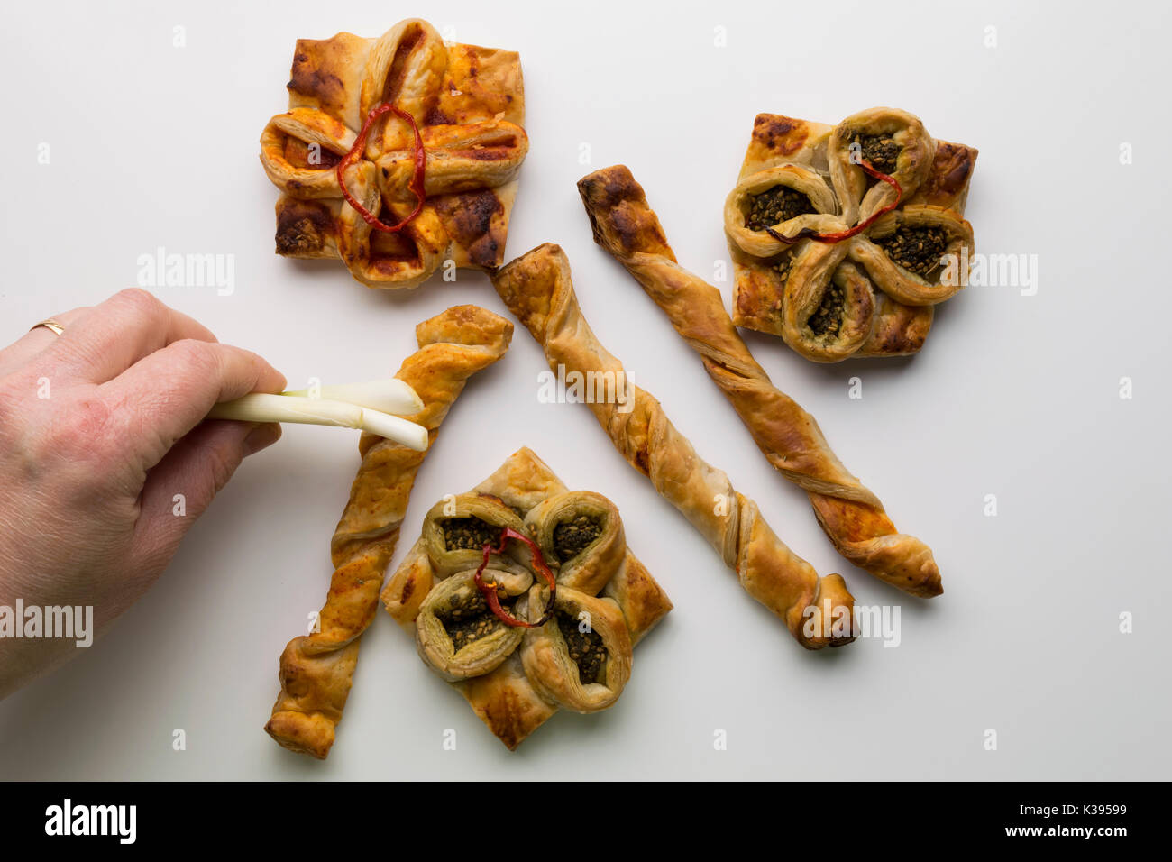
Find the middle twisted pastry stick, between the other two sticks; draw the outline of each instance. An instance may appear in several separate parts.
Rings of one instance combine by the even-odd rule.
[[[841,646],[853,639],[830,631],[831,620],[851,619],[854,599],[843,578],[819,578],[777,538],[757,504],[696,454],[659,401],[625,386],[622,364],[599,344],[578,307],[570,263],[560,247],[547,243],[533,249],[499,270],[492,284],[545,348],[551,368],[560,365],[567,373],[605,375],[601,379],[615,382],[615,392],[620,386],[627,389],[622,403],[618,398],[591,402],[594,418],[631,466],[650,478],[655,490],[736,570],[750,596],[781,617],[806,649]]]

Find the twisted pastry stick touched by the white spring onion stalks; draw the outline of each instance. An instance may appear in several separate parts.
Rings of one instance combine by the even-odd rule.
[[[475,305],[457,305],[415,328],[420,349],[395,376],[423,400],[411,420],[428,429],[428,449],[414,452],[374,434],[359,441],[362,464],[331,543],[335,571],[320,631],[293,638],[281,654],[281,693],[265,731],[286,748],[319,759],[329,754],[415,474],[464,382],[504,355],[512,328]]]

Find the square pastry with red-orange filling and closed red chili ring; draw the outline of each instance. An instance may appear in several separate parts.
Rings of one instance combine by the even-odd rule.
[[[282,192],[278,254],[340,258],[370,287],[500,265],[529,152],[516,52],[408,19],[377,39],[298,40],[287,89],[260,136]]]

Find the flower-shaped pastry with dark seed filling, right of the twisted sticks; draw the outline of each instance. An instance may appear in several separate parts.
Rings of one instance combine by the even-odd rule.
[[[724,202],[734,323],[819,362],[920,349],[966,281],[975,161],[892,108],[834,127],[759,114]]]

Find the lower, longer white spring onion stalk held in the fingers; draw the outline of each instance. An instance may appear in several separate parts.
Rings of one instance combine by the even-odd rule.
[[[413,393],[414,394],[414,393]],[[417,413],[418,410],[413,410]],[[234,419],[241,422],[298,422],[356,428],[423,452],[428,448],[428,429],[422,425],[393,416],[369,407],[323,398],[252,394],[236,401],[218,403],[209,419]]]

